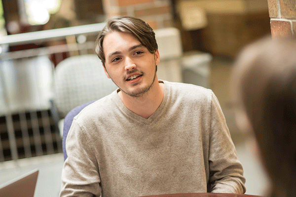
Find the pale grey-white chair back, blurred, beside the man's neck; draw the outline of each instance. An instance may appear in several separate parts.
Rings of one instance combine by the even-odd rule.
[[[97,55],[79,55],[61,61],[54,70],[53,105],[58,113],[58,128],[63,128],[61,119],[74,109],[93,100],[101,99],[116,90]],[[60,129],[60,134],[62,135]]]

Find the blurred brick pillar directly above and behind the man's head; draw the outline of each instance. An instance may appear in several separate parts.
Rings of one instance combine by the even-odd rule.
[[[152,29],[173,27],[170,0],[103,0],[107,17],[134,16],[146,21]]]

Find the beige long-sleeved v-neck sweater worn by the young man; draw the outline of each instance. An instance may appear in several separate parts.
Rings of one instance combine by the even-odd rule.
[[[213,92],[164,85],[164,99],[148,119],[128,110],[116,91],[74,118],[61,197],[245,192],[243,168]]]

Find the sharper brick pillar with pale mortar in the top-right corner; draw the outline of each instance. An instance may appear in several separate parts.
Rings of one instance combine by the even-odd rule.
[[[296,38],[296,0],[268,0],[268,11],[273,38]]]

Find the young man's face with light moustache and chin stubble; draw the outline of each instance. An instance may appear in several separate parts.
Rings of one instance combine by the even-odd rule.
[[[130,33],[112,32],[103,40],[105,73],[120,88],[122,94],[139,97],[150,90],[159,64],[158,50],[150,53]]]

